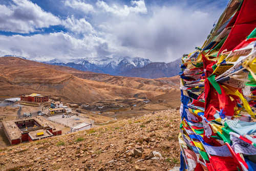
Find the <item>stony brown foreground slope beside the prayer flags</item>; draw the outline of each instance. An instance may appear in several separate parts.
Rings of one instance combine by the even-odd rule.
[[[158,111],[88,131],[0,149],[1,170],[170,170],[179,113]]]

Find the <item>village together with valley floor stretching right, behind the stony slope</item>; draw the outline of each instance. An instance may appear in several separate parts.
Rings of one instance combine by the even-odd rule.
[[[117,119],[154,113],[155,110],[170,107],[165,100],[158,99],[155,104],[148,105],[150,102],[149,99],[130,98],[76,104],[37,93],[8,98],[0,103],[1,108],[6,104],[0,115],[0,140],[5,145],[26,143],[89,130]],[[4,143],[1,145],[4,146]]]

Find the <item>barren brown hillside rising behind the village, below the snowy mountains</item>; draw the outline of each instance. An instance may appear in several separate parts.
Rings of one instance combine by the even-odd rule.
[[[85,72],[17,57],[1,57],[0,70],[0,96],[2,97],[37,92],[60,96],[73,102],[92,102],[130,97],[152,98],[172,90],[169,83],[153,79],[140,81],[140,78],[122,77],[121,81],[124,83],[120,83],[118,79],[116,82],[103,80],[99,82],[78,78],[74,75]],[[100,74],[97,75],[100,76]],[[112,78],[110,75],[104,76],[105,79],[108,77]]]

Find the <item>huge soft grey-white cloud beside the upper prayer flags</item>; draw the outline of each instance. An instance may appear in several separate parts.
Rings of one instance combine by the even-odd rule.
[[[119,49],[126,55],[169,62],[201,46],[217,19],[216,13],[220,14],[219,9],[207,12],[183,6],[154,7],[151,12],[147,16],[112,18],[99,27],[109,33],[105,39],[118,54]]]

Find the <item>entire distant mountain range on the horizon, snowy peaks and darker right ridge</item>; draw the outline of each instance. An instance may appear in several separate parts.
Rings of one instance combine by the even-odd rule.
[[[15,55],[5,55],[15,56]],[[15,56],[26,59],[23,56]],[[33,59],[32,59],[33,60]],[[36,61],[36,60],[35,60]],[[110,74],[114,76],[163,78],[178,75],[180,59],[172,62],[152,62],[140,57],[84,57],[76,59],[58,59],[38,61],[55,66],[71,67],[80,71]]]

